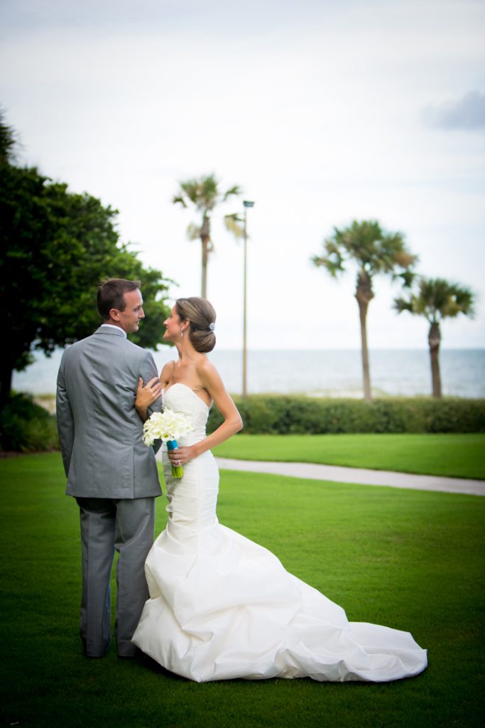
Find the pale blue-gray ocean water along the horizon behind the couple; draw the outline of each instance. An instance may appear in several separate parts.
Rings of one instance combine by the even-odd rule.
[[[62,350],[52,357],[36,355],[23,372],[15,372],[13,388],[48,395],[55,392]],[[161,367],[175,358],[171,347],[154,353]],[[209,355],[232,394],[241,392],[242,357],[238,351],[215,351]],[[425,349],[377,349],[369,352],[371,384],[375,395],[430,395],[431,373]],[[485,349],[444,349],[440,355],[444,395],[485,397]],[[306,393],[325,397],[361,397],[361,352],[351,349],[327,351],[248,352],[249,394],[278,392]]]

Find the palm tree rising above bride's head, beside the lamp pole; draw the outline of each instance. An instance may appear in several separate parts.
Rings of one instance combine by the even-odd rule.
[[[241,194],[238,185],[220,192],[218,184],[214,174],[186,180],[180,182],[180,190],[172,199],[174,205],[180,203],[183,207],[188,207],[191,203],[197,212],[202,213],[201,224],[191,223],[187,229],[189,240],[200,238],[202,243],[202,298],[207,298],[207,261],[209,253],[214,249],[210,215],[217,204],[225,202],[231,195]]]

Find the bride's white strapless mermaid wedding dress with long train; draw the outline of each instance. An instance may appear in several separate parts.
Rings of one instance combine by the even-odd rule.
[[[191,417],[191,445],[209,408],[185,384],[164,404]],[[289,574],[278,558],[216,516],[219,472],[207,451],[172,478],[167,528],[145,563],[150,598],[133,642],[167,670],[197,682],[228,678],[390,681],[416,675],[426,650],[408,632],[348,622],[344,610]]]

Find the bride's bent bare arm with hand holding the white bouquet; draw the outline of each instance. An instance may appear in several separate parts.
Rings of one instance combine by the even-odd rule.
[[[215,448],[216,445],[220,445],[220,443],[236,435],[236,432],[242,430],[243,427],[241,415],[233,400],[228,395],[228,392],[226,392],[224,382],[215,366],[209,360],[206,360],[197,368],[197,373],[199,374],[201,384],[207,389],[217,409],[222,414],[224,422],[217,427],[217,430],[211,432],[210,435],[207,435],[207,438],[204,438],[199,443],[169,451],[169,458],[173,462],[181,460],[182,464],[185,464],[185,462],[192,460],[211,448]]]

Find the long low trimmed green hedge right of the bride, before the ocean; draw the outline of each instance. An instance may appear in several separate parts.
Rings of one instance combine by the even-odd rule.
[[[285,395],[234,397],[248,434],[324,432],[485,432],[485,400],[395,397],[364,400]],[[215,407],[208,431],[223,422]]]

